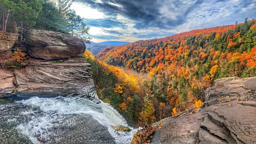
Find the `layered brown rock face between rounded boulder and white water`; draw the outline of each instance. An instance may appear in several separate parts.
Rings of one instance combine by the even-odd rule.
[[[91,65],[84,58],[30,61],[24,65],[24,69],[14,70],[18,97],[97,97]]]

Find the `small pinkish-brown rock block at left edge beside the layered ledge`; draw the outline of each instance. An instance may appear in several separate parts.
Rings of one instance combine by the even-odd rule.
[[[0,98],[14,94],[13,74],[0,68]]]

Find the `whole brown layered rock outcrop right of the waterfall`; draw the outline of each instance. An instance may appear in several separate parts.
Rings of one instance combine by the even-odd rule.
[[[256,143],[256,77],[221,78],[206,90],[205,108],[165,118],[151,143]]]

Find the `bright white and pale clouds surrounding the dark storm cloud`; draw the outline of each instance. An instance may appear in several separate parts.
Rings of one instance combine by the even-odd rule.
[[[105,0],[95,0],[97,3],[103,4]],[[117,0],[116,0],[117,2]],[[146,29],[136,29],[134,28],[135,23],[138,21],[124,17],[122,14],[106,15],[100,12],[100,10],[92,9],[86,3],[74,2],[71,8],[75,9],[77,14],[81,15],[86,19],[115,19],[116,21],[122,22],[127,27],[91,27],[89,33],[94,36],[113,36],[117,39],[108,39],[108,41],[129,41],[134,42],[140,39],[152,38],[152,35],[159,34],[163,36],[164,34],[171,33],[182,33],[184,31],[189,31],[193,29],[202,29],[215,26],[231,25],[235,21],[243,22],[244,18],[249,17],[252,19],[255,17],[256,13],[256,0],[225,0],[225,1],[203,1],[202,4],[196,4],[192,0],[183,1],[173,1],[173,0],[159,0],[162,3],[159,9],[159,19],[166,20],[178,20],[182,18],[184,23],[178,26],[171,27],[170,29],[150,27]],[[175,3],[177,2],[177,3]],[[117,7],[122,7],[116,3],[108,3]],[[178,5],[177,5],[178,4]],[[190,5],[190,7],[189,7]],[[191,8],[191,5],[194,5]],[[152,5],[154,6],[154,5]],[[123,7],[125,7],[123,5]],[[143,6],[141,7],[143,9]],[[188,13],[187,13],[188,11]],[[253,14],[254,13],[254,14]],[[104,24],[104,23],[103,23]],[[142,23],[143,24],[143,23]],[[106,33],[106,31],[118,31],[118,33]],[[146,35],[151,35],[146,36]],[[93,42],[102,42],[106,39],[92,39]]]

